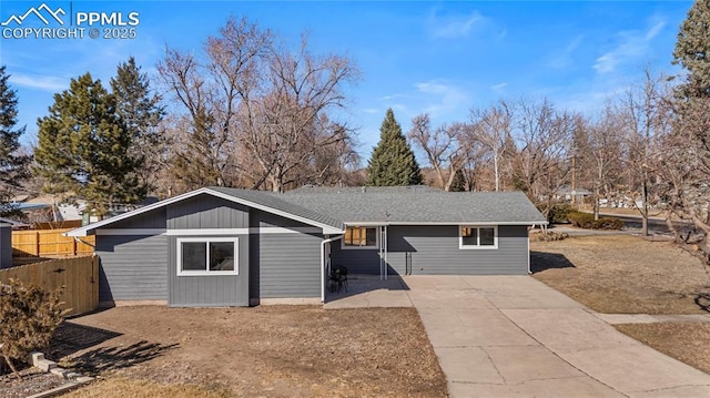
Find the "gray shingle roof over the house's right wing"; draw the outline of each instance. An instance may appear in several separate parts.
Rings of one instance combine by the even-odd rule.
[[[541,224],[521,192],[444,192],[428,187],[302,187],[284,201],[353,223]]]

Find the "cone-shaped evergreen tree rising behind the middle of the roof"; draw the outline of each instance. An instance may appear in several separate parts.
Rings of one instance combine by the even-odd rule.
[[[379,143],[367,166],[367,185],[397,186],[422,184],[422,171],[402,133],[392,109],[379,127]]]

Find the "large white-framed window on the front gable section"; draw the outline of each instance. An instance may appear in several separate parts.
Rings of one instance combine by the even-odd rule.
[[[178,276],[239,275],[239,238],[179,237]]]

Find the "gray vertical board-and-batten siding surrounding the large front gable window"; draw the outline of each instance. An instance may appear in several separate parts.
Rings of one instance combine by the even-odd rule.
[[[248,207],[212,195],[199,195],[168,206],[168,232],[182,229],[169,236],[169,305],[176,307],[247,306],[250,236],[234,233],[209,235],[200,229],[247,228]],[[191,233],[194,231],[194,233]],[[237,237],[239,275],[178,276],[179,237]]]

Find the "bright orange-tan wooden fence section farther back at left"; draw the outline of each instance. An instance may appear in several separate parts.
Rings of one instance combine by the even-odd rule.
[[[77,242],[71,236],[62,234],[72,228],[49,229],[49,231],[12,231],[12,256],[13,257],[52,257],[52,256],[77,256],[93,253],[95,236],[82,236]]]

